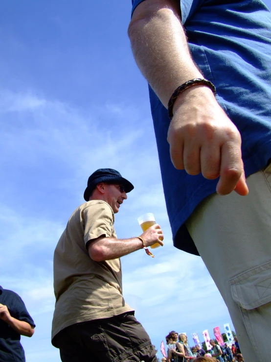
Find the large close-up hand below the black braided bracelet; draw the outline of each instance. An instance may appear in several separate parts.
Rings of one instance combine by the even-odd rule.
[[[233,190],[248,194],[240,133],[209,88],[193,86],[178,97],[167,140],[176,169],[190,175],[202,172],[210,180],[220,176],[221,195]]]

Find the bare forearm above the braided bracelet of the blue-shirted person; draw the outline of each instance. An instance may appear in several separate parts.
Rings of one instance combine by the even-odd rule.
[[[136,64],[163,105],[186,80],[202,77],[191,59],[175,0],[145,0],[128,29]]]

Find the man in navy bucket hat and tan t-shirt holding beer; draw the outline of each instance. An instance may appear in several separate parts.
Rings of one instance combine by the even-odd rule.
[[[163,244],[158,224],[139,237],[117,239],[114,214],[133,189],[114,169],[93,172],[86,202],[73,212],[58,241],[52,344],[63,362],[157,361],[148,334],[122,296],[119,258]]]

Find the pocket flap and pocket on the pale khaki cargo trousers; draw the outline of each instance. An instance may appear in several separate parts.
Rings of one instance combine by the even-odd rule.
[[[271,262],[249,269],[230,281],[233,300],[244,309],[271,302]]]

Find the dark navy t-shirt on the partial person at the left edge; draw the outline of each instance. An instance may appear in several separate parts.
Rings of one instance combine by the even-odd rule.
[[[0,304],[7,306],[9,314],[35,327],[34,321],[27,312],[23,300],[14,291],[0,287]],[[25,362],[21,335],[0,319],[0,361]]]

